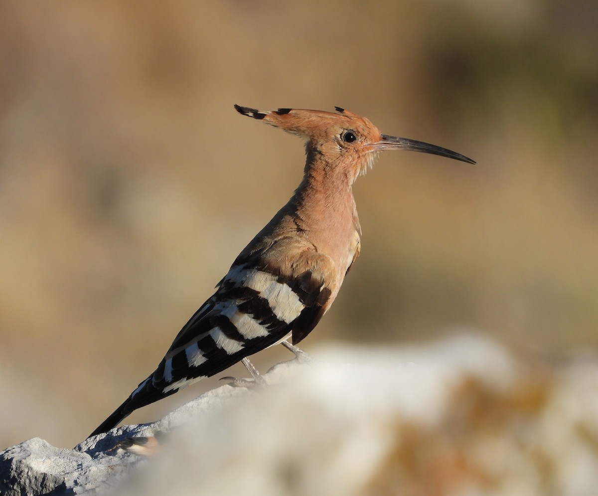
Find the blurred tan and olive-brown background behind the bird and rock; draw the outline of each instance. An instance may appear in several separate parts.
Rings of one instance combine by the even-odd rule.
[[[361,257],[307,352],[595,348],[597,25],[591,0],[2,2],[0,449],[83,440],[291,196],[303,145],[233,104],[343,106],[478,162],[359,178]]]

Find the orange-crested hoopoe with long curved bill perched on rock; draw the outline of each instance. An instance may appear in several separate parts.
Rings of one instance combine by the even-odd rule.
[[[361,228],[352,185],[377,152],[422,151],[475,163],[446,148],[383,135],[367,118],[340,107],[337,113],[234,107],[306,141],[303,180],[234,260],[158,368],[90,436],[238,361],[249,369],[246,357],[288,337],[292,345],[304,339],[334,302],[359,255]]]

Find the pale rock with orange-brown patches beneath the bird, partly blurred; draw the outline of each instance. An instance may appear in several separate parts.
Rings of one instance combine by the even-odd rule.
[[[595,494],[595,357],[539,367],[471,336],[315,355],[74,450],[8,448],[0,494]],[[155,457],[107,451],[155,431]]]

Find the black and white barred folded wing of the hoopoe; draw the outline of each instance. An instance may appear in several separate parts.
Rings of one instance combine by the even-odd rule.
[[[133,402],[145,403],[148,395],[151,403],[156,392],[169,394],[222,372],[289,334],[299,342],[324,314],[329,295],[322,278],[310,271],[283,278],[244,265],[231,268],[160,366],[133,392]]]

